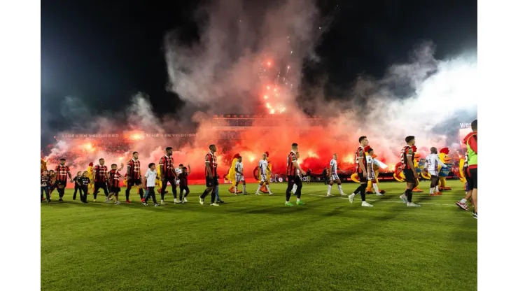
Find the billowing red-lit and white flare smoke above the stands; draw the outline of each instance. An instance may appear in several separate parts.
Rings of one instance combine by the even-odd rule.
[[[108,164],[125,163],[137,150],[146,165],[158,162],[165,147],[173,146],[175,163],[190,163],[192,178],[202,179],[204,155],[209,144],[216,143],[220,176],[239,152],[245,176],[251,178],[265,151],[269,151],[273,173],[283,173],[290,145],[297,142],[302,167],[318,173],[335,152],[339,167],[351,169],[358,137],[364,135],[389,166],[398,162],[408,135],[416,136],[422,154],[431,146],[456,148],[458,122],[476,118],[476,53],[440,60],[434,57],[433,43],[421,43],[410,52],[408,62],[393,64],[380,79],[361,76],[338,96],[324,96],[323,85],[304,90],[311,92],[304,95],[303,64],[318,62],[315,48],[327,19],[310,0],[243,2],[220,0],[201,7],[195,15],[200,37],[192,43],[180,40],[181,31],[164,38],[167,89],[194,109],[180,118],[158,118],[146,94],[140,93],[132,98],[121,121],[119,115],[93,116],[78,100],[66,99],[62,114],[74,127],[65,134],[125,131],[131,146],[114,155],[98,148],[90,137],[67,139],[55,144],[50,157],[74,152],[69,163],[85,170],[88,162],[100,157]],[[311,125],[304,111],[322,116],[323,125]],[[222,141],[211,118],[225,113],[263,114],[275,121],[268,126],[255,121],[240,133],[239,141]],[[80,116],[87,117],[87,122]],[[188,126],[190,122],[197,127]],[[142,132],[159,136],[141,136]],[[160,136],[169,133],[195,136]]]

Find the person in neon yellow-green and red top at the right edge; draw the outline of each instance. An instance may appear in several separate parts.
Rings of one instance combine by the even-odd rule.
[[[473,218],[478,219],[477,212],[477,155],[478,155],[478,146],[477,146],[477,120],[473,120],[471,122],[471,130],[472,132],[465,136],[463,139],[463,143],[465,143],[466,148],[468,148],[468,173],[469,176],[466,176],[466,180],[468,180],[468,192],[471,192],[471,201],[473,202],[473,207],[475,211],[473,212]]]

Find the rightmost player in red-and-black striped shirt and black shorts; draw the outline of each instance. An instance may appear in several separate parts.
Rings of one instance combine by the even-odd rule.
[[[402,148],[400,158],[407,182],[407,190],[405,190],[405,194],[400,196],[400,199],[409,207],[420,207],[421,205],[412,202],[412,190],[416,186],[416,179],[419,177],[414,168],[414,150],[412,149],[412,146],[416,144],[416,139],[414,136],[407,136],[405,141],[407,145]]]

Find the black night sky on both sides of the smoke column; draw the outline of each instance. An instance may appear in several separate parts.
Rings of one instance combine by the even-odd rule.
[[[181,101],[165,90],[163,38],[181,29],[195,40],[200,1],[96,2],[41,2],[41,109],[50,116],[42,127],[66,129],[59,116],[65,96],[95,114],[124,108],[141,91],[158,115],[178,111]],[[438,59],[477,47],[477,1],[329,0],[318,7],[332,24],[316,48],[321,62],[306,66],[304,82],[325,74],[330,95],[360,73],[381,76],[421,41],[437,45]]]

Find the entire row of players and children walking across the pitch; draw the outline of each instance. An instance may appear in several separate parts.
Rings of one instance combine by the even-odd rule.
[[[463,165],[463,173],[466,177],[466,196],[461,201],[458,201],[456,205],[460,208],[468,210],[466,201],[470,199],[472,205],[475,208],[473,217],[477,218],[477,120],[472,122],[472,133],[465,137],[464,143],[467,145],[467,152],[465,156],[465,163]],[[366,201],[366,189],[367,182],[372,183],[372,188],[377,196],[383,196],[379,192],[377,187],[377,176],[374,172],[374,165],[377,164],[375,159],[374,149],[369,146],[369,140],[367,136],[360,136],[358,139],[359,146],[355,152],[355,171],[358,174],[360,185],[354,190],[352,194],[345,194],[342,190],[342,181],[338,176],[338,155],[335,153],[330,159],[329,166],[323,171],[324,185],[327,184],[327,197],[333,197],[332,186],[337,185],[339,194],[346,196],[349,202],[353,204],[357,194],[361,197],[361,206],[373,207],[372,204]],[[412,201],[414,187],[416,187],[419,174],[414,166],[415,156],[415,137],[407,136],[405,138],[405,146],[402,147],[400,152],[400,162],[402,165],[402,173],[405,176],[405,192],[400,195],[400,199],[408,207],[420,207],[420,204],[415,204]],[[299,145],[293,143],[291,150],[288,153],[286,159],[286,200],[284,205],[294,206],[290,201],[290,197],[293,195],[296,197],[295,204],[302,206],[305,203],[301,199],[302,195],[302,177],[307,175],[307,171],[304,171],[299,164],[300,153]],[[216,156],[217,148],[216,145],[211,144],[209,146],[209,152],[205,155],[204,168],[205,168],[205,185],[204,192],[200,194],[200,204],[204,205],[207,196],[211,196],[210,206],[220,206],[224,203],[219,199],[218,194],[218,158]],[[47,171],[44,170],[41,173],[41,201],[52,201],[51,194],[52,190],[57,189],[59,194],[59,201],[63,201],[64,189],[68,179],[71,183],[74,183],[74,194],[73,199],[76,199],[76,193],[79,192],[80,201],[87,203],[87,194],[89,192],[88,185],[93,183],[93,201],[97,201],[97,194],[100,190],[103,190],[106,204],[109,204],[114,199],[115,204],[120,204],[118,194],[120,192],[120,178],[123,177],[120,171],[124,168],[124,164],[117,167],[117,164],[111,164],[111,169],[108,170],[108,166],[105,165],[103,158],[99,159],[99,164],[93,167],[92,177],[90,180],[87,171],[79,171],[75,178],[72,178],[69,166],[65,165],[66,160],[60,159],[59,165],[55,167],[55,170]],[[439,192],[439,170],[438,166],[447,167],[446,164],[441,162],[437,155],[437,148],[430,148],[430,154],[426,157],[423,165],[423,172],[430,175],[430,195],[440,195]],[[244,177],[244,163],[241,156],[237,155],[237,162],[235,162],[235,187],[233,187],[233,193],[238,194],[237,186],[241,183],[243,187],[243,194],[246,192],[246,180]],[[190,165],[183,166],[179,164],[178,168],[174,166],[173,148],[168,146],[165,149],[165,155],[160,158],[158,167],[156,164],[148,164],[146,173],[142,174],[141,163],[139,161],[139,152],[132,153],[132,159],[127,162],[127,188],[125,191],[125,203],[130,204],[130,190],[132,187],[137,187],[137,191],[140,196],[141,204],[148,206],[148,201],[151,199],[154,206],[165,205],[165,194],[167,193],[167,185],[171,185],[172,194],[174,197],[173,204],[184,204],[187,203],[187,197],[190,194],[188,187],[188,176],[190,173]],[[273,195],[269,188],[269,179],[267,176],[271,176],[272,171],[269,168],[267,162],[267,152],[262,154],[261,159],[258,162],[258,187],[255,191],[256,195],[260,195],[260,190],[265,187],[265,192],[269,195]],[[179,193],[176,187],[179,186]],[[160,203],[156,199],[155,189],[160,194]],[[240,193],[240,192],[239,192]],[[179,194],[179,197],[178,197]]]

